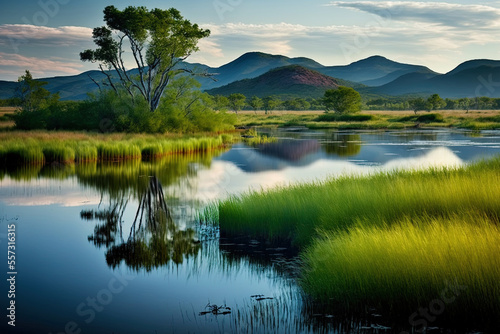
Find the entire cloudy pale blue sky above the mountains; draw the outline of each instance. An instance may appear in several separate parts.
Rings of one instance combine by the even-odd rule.
[[[500,59],[500,1],[16,0],[0,9],[0,80],[97,69],[79,53],[114,5],[171,7],[211,35],[188,61],[212,67],[250,51],[347,65],[381,55],[446,73],[471,59]],[[130,64],[132,68],[132,64]]]

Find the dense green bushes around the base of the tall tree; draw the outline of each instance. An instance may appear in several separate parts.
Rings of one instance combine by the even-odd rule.
[[[101,132],[220,132],[234,129],[236,117],[216,112],[200,84],[184,76],[172,81],[160,107],[150,112],[143,99],[125,91],[103,91],[83,102],[57,102],[16,113],[18,129],[88,130]]]

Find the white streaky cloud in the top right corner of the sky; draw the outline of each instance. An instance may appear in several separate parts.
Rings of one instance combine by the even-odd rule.
[[[352,8],[397,21],[477,28],[498,27],[500,9],[486,5],[413,1],[333,1],[329,6]]]

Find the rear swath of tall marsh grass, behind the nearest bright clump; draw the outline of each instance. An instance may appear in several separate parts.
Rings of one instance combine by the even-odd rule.
[[[348,229],[362,219],[372,225],[401,217],[449,217],[500,212],[500,158],[458,169],[393,171],[369,177],[249,192],[219,203],[225,233],[248,233],[309,244],[318,230]],[[382,223],[383,222],[383,223]]]

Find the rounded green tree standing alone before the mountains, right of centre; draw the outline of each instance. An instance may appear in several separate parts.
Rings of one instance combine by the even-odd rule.
[[[340,86],[325,92],[323,105],[326,111],[337,113],[355,113],[361,110],[361,95],[350,87]]]

